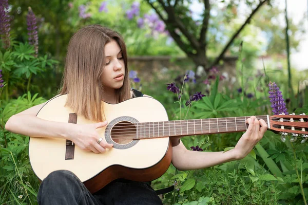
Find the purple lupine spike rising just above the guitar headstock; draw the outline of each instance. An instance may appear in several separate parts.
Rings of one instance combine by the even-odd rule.
[[[279,114],[288,114],[287,109],[285,107],[285,102],[282,96],[282,92],[279,90],[279,87],[277,87],[277,84],[275,82],[269,82],[268,84],[269,87],[269,102],[272,103],[271,107],[273,108],[273,113],[274,115],[279,115]]]

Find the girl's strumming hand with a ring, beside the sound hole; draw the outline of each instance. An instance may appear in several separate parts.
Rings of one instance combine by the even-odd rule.
[[[104,153],[106,148],[111,148],[113,144],[108,144],[105,139],[100,143],[101,136],[97,132],[98,128],[107,125],[107,121],[93,124],[71,124],[74,126],[73,132],[69,133],[67,138],[79,146],[83,151]]]

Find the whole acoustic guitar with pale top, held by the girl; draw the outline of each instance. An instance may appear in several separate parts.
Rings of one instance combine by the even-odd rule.
[[[65,107],[67,95],[48,101],[37,117],[56,122],[94,123]],[[97,192],[114,179],[151,181],[159,178],[171,163],[170,137],[246,131],[248,117],[168,121],[163,105],[150,97],[139,97],[118,104],[102,102],[108,125],[97,129],[110,150],[85,152],[73,142],[59,138],[30,137],[29,158],[38,179],[56,170],[69,170],[91,192]],[[283,135],[308,136],[305,115],[257,116],[268,129]]]

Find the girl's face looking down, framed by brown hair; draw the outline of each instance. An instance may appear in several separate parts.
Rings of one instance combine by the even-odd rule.
[[[123,86],[125,66],[119,44],[112,40],[105,45],[105,67],[101,77],[106,91],[119,89]]]

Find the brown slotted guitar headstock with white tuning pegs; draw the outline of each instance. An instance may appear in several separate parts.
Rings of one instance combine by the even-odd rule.
[[[301,143],[308,138],[308,116],[304,113],[300,115],[273,115],[269,117],[269,129],[273,129],[281,134],[281,141],[285,141],[287,135],[292,135],[290,141],[295,142],[297,137],[302,137]]]

